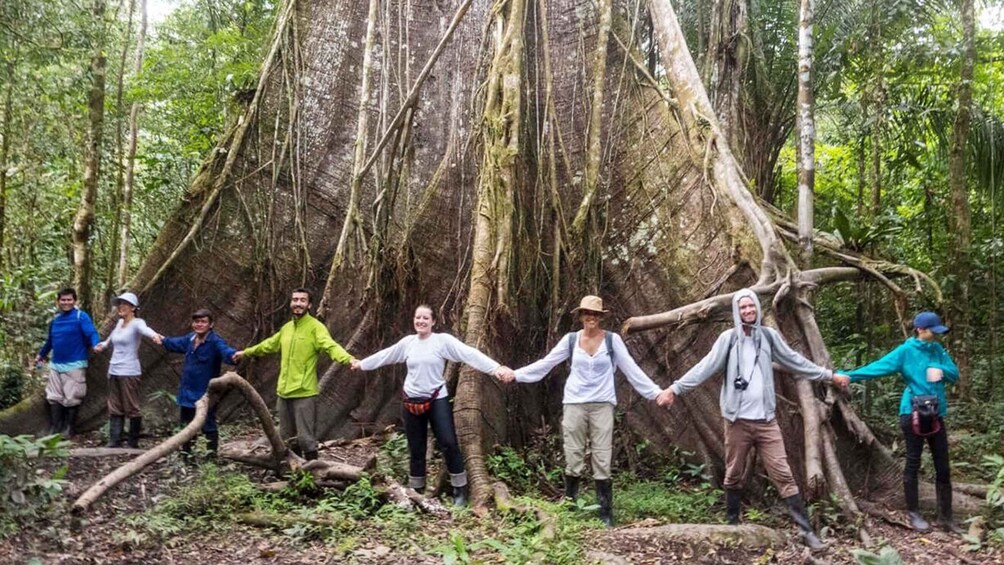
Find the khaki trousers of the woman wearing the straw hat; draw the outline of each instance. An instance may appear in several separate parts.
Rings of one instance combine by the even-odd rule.
[[[585,441],[592,454],[592,478],[610,478],[610,445],[613,443],[613,404],[585,402],[565,404],[561,418],[565,475],[581,477],[585,472]]]

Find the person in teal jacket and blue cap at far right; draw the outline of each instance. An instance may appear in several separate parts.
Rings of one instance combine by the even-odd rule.
[[[952,521],[952,480],[948,461],[948,431],[945,414],[945,382],[959,380],[959,367],[949,356],[938,336],[947,332],[941,318],[934,312],[921,312],[914,318],[917,334],[883,358],[851,371],[840,371],[850,376],[851,382],[900,374],[907,387],[900,400],[900,428],[907,447],[907,464],[903,469],[903,489],[907,499],[907,513],[915,530],[927,531],[930,525],[920,514],[917,474],[921,469],[921,454],[927,440],[935,460],[935,487],[938,496],[938,525],[949,532],[961,533]],[[933,425],[940,428],[931,435],[918,435],[914,430],[913,399],[915,396],[938,397],[938,419]]]

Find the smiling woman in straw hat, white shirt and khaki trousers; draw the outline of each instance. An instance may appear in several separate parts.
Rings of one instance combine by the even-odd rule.
[[[619,368],[632,386],[650,400],[662,394],[663,389],[638,366],[620,336],[603,330],[601,322],[608,311],[603,309],[602,298],[585,296],[571,313],[578,315],[582,329],[567,334],[544,358],[517,369],[514,379],[536,382],[558,363],[571,359],[561,418],[565,497],[574,500],[578,494],[578,484],[585,471],[588,440],[599,519],[609,527],[613,524],[610,445],[613,407],[617,403],[613,372]]]

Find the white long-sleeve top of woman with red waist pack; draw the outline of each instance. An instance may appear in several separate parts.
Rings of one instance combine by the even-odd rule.
[[[405,394],[410,397],[427,397],[446,384],[443,371],[447,361],[468,365],[493,374],[500,363],[471,347],[449,333],[431,333],[425,339],[412,334],[394,345],[382,349],[359,361],[362,370],[372,370],[384,365],[406,363]],[[447,398],[446,386],[437,398]]]

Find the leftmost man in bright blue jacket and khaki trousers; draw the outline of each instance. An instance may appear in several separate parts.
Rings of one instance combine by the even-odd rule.
[[[45,383],[49,403],[49,434],[76,433],[76,410],[87,395],[87,354],[100,340],[94,322],[76,307],[76,291],[64,288],[56,293],[59,312],[49,323],[49,334],[35,356],[41,365],[52,352]]]

